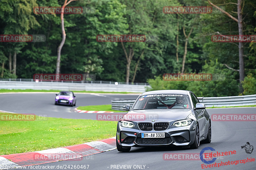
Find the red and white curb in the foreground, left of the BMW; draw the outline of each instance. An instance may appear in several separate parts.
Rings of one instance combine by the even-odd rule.
[[[116,149],[116,137],[43,151],[0,155],[0,169],[40,165],[60,160],[82,160],[84,156]]]

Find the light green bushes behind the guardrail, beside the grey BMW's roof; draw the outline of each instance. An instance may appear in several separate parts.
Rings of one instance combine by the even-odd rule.
[[[213,76],[223,75],[225,79],[212,81],[164,81],[162,76],[156,79],[149,79],[151,86],[148,90],[167,90],[180,89],[191,90],[196,96],[215,97],[215,96],[236,96],[238,94],[237,84],[234,83],[234,75],[228,68],[224,68],[217,60],[209,63],[205,62],[203,70],[200,73],[212,74]]]

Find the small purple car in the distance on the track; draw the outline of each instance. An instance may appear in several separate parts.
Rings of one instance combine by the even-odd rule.
[[[72,91],[61,91],[55,97],[55,105],[57,104],[76,106],[76,96]]]

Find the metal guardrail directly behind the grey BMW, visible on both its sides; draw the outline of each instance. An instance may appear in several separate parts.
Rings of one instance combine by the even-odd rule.
[[[246,96],[227,96],[227,97],[204,97],[204,101],[199,99],[201,103],[204,103],[206,107],[222,107],[222,106],[247,106],[256,104],[256,95]],[[125,104],[131,106],[135,102],[134,99],[130,100],[111,100],[113,110],[122,110]]]

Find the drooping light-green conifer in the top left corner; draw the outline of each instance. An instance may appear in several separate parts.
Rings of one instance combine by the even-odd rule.
[[[2,0],[0,1],[0,18],[4,34],[28,34],[28,30],[39,26],[32,14],[36,0]],[[9,56],[13,53],[12,73],[16,75],[17,53],[25,43],[8,43]],[[10,57],[9,57],[10,60]],[[10,67],[10,65],[9,65]]]

